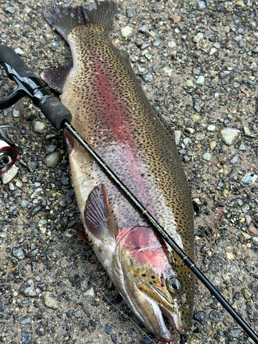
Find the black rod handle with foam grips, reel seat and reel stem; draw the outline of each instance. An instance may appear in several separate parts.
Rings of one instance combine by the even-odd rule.
[[[14,80],[18,86],[8,98],[0,101],[0,109],[6,109],[23,96],[28,96],[57,129],[63,128],[63,122],[72,121],[72,114],[67,107],[58,98],[52,96],[32,69],[6,45],[0,45],[0,64],[6,70],[8,78]]]

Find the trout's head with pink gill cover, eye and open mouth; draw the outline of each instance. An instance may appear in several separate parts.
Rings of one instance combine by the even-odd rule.
[[[194,277],[152,228],[135,227],[119,238],[116,262],[131,310],[159,341],[173,339],[163,316],[181,334],[189,330]],[[121,289],[121,288],[120,288]]]

